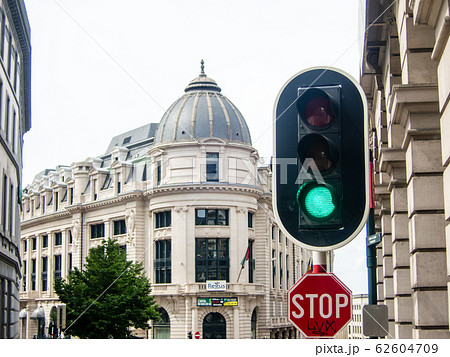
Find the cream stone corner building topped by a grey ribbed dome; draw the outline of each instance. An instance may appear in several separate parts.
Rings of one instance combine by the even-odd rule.
[[[54,279],[106,238],[144,263],[162,313],[150,338],[299,337],[286,292],[309,253],[278,228],[270,167],[258,160],[242,114],[202,64],[159,124],[41,172],[22,201],[22,337],[47,334]],[[29,318],[39,311],[43,331]]]

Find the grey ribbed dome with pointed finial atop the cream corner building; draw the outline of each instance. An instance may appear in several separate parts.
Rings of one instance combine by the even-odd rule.
[[[251,145],[250,131],[236,106],[217,83],[206,76],[201,61],[200,75],[189,82],[185,94],[163,115],[155,134],[155,144],[220,138]]]

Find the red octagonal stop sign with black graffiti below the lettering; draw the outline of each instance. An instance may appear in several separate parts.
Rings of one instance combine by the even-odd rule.
[[[306,337],[333,337],[352,317],[352,292],[333,273],[303,275],[287,300],[288,320]]]

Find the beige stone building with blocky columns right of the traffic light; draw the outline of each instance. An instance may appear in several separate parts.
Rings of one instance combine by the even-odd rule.
[[[442,0],[366,1],[377,294],[394,338],[450,337],[449,11]]]

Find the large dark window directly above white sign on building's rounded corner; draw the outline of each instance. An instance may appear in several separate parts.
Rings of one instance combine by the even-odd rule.
[[[195,240],[195,281],[229,281],[230,259],[228,239],[197,238]]]

